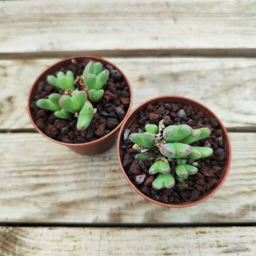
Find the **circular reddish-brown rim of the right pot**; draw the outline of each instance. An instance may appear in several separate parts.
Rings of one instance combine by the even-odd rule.
[[[144,106],[148,105],[150,102],[152,102],[153,100],[158,100],[158,101],[161,101],[163,99],[166,99],[166,98],[172,98],[172,99],[176,99],[176,100],[187,100],[187,101],[190,101],[194,104],[198,104],[200,105],[201,108],[204,108],[206,111],[208,111],[211,115],[214,116],[214,118],[217,119],[218,123],[219,123],[219,126],[221,128],[221,130],[223,131],[224,133],[224,136],[226,138],[226,141],[225,143],[227,144],[227,148],[229,149],[228,150],[228,153],[227,156],[226,156],[226,167],[225,167],[225,173],[224,175],[220,178],[220,181],[219,183],[217,184],[217,186],[215,186],[211,191],[209,191],[209,193],[207,195],[202,195],[201,199],[199,200],[196,200],[196,201],[188,201],[188,202],[183,202],[183,203],[180,203],[180,204],[167,204],[167,203],[163,203],[163,202],[159,202],[145,194],[143,194],[134,184],[133,182],[129,179],[129,177],[127,176],[127,174],[125,173],[124,171],[124,168],[122,166],[122,160],[121,160],[121,150],[120,150],[120,145],[121,145],[121,141],[122,141],[122,134],[123,134],[123,130],[124,130],[124,126],[127,122],[127,120],[129,119],[129,117],[131,115],[133,115],[134,112],[136,112],[138,109],[140,108],[143,108]],[[135,117],[136,118],[136,117]],[[141,196],[143,196],[145,199],[147,199],[148,201],[150,202],[153,202],[155,204],[158,204],[158,205],[161,205],[161,206],[165,206],[165,207],[169,207],[169,208],[183,208],[183,207],[189,207],[189,206],[193,206],[193,205],[196,205],[196,204],[199,204],[203,201],[205,201],[206,199],[208,199],[209,197],[211,197],[213,194],[215,194],[219,188],[222,186],[222,184],[224,183],[224,181],[226,180],[226,177],[229,173],[229,169],[230,169],[230,164],[231,164],[231,144],[230,144],[230,140],[229,140],[229,137],[228,137],[228,134],[227,134],[227,131],[223,125],[223,123],[220,121],[220,119],[216,116],[216,114],[211,111],[207,106],[203,105],[202,103],[196,101],[196,100],[193,100],[193,99],[190,99],[190,98],[186,98],[186,97],[182,97],[182,96],[176,96],[176,95],[166,95],[166,96],[158,96],[158,97],[154,97],[154,98],[151,98],[149,100],[146,100],[144,101],[143,103],[141,103],[139,106],[137,106],[130,114],[129,116],[125,119],[125,121],[123,122],[121,128],[120,128],[120,131],[119,131],[119,134],[118,134],[118,139],[117,139],[117,157],[118,157],[118,162],[119,162],[119,165],[121,167],[121,171],[122,171],[122,174],[124,176],[124,178],[126,179],[126,181],[132,186],[132,188],[138,193],[140,194]]]

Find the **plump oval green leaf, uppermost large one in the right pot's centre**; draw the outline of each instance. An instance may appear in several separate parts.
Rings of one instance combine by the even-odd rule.
[[[163,137],[167,142],[178,142],[189,136],[192,131],[192,128],[187,124],[169,125],[163,131]]]

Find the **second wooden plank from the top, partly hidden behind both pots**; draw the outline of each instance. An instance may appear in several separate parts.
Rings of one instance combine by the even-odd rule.
[[[256,129],[254,58],[108,58],[129,77],[133,107],[160,95],[181,95],[210,107],[227,127]],[[57,59],[0,61],[0,129],[32,128],[27,95]]]

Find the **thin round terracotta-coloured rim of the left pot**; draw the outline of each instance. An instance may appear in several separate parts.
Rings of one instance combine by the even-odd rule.
[[[114,69],[117,69],[122,77],[123,77],[123,80],[126,82],[128,88],[129,88],[129,92],[130,92],[130,104],[129,104],[129,107],[125,113],[125,116],[123,117],[123,119],[121,120],[121,122],[115,127],[114,130],[112,130],[110,133],[108,133],[107,135],[105,135],[104,137],[101,137],[95,141],[92,141],[92,142],[86,142],[86,143],[79,143],[79,144],[75,144],[75,143],[64,143],[64,142],[59,142],[57,140],[54,140],[50,137],[48,137],[46,134],[44,134],[39,128],[38,126],[36,125],[35,121],[33,120],[33,117],[32,117],[32,112],[31,112],[31,107],[30,107],[30,104],[31,104],[31,100],[32,100],[32,93],[34,91],[34,88],[37,86],[38,84],[38,80],[39,78],[44,74],[46,73],[49,69],[51,69],[52,67],[56,66],[56,65],[59,65],[59,64],[62,64],[63,62],[66,62],[66,61],[70,61],[72,59],[77,59],[77,58],[83,58],[83,59],[91,59],[91,60],[94,60],[94,61],[99,61],[103,64],[109,64],[111,65]],[[47,74],[46,74],[47,75]],[[132,108],[132,104],[133,104],[133,90],[132,90],[132,86],[131,86],[131,83],[130,81],[128,80],[128,78],[126,77],[126,75],[115,65],[113,64],[112,62],[108,61],[108,60],[105,60],[101,57],[96,57],[96,56],[90,56],[90,55],[78,55],[78,56],[72,56],[72,57],[68,57],[68,58],[65,58],[65,59],[62,59],[58,62],[55,62],[54,64],[52,64],[51,66],[47,67],[47,69],[45,69],[43,72],[41,72],[36,80],[34,81],[34,83],[32,84],[31,88],[30,88],[30,91],[29,91],[29,96],[28,96],[28,106],[27,106],[27,109],[28,109],[28,114],[29,114],[29,118],[30,118],[30,121],[32,122],[32,124],[34,125],[36,131],[38,133],[40,133],[41,135],[43,135],[45,138],[47,138],[48,140],[52,141],[52,142],[55,142],[57,144],[60,144],[60,145],[64,145],[64,146],[75,146],[75,147],[84,147],[84,146],[88,146],[88,145],[93,145],[95,143],[99,143],[103,140],[105,140],[107,137],[110,137],[111,135],[113,135],[115,132],[117,132],[122,123],[124,122],[124,120],[129,116],[129,113],[131,111],[131,108]]]

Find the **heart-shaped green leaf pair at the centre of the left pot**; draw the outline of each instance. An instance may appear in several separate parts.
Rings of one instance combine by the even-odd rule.
[[[59,101],[59,105],[71,113],[77,113],[82,109],[86,100],[87,94],[84,91],[75,90],[72,92],[71,97],[69,95],[63,95]]]

